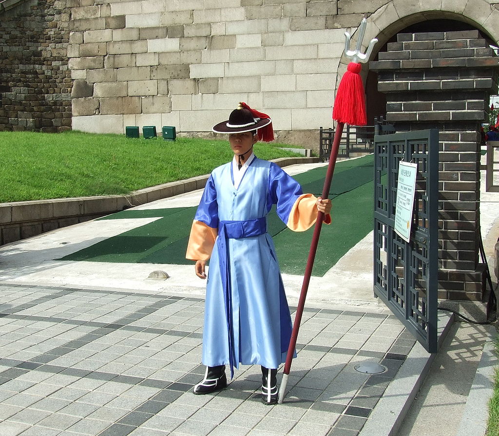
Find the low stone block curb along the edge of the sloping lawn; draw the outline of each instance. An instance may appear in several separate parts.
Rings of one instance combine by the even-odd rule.
[[[316,163],[319,158],[274,159],[280,167]],[[77,197],[0,204],[1,244],[102,217],[156,200],[204,188],[208,175],[134,191],[128,195]]]

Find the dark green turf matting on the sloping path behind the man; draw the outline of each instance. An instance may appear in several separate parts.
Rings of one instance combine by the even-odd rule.
[[[294,178],[303,192],[321,195],[327,167]],[[333,223],[324,225],[317,248],[313,275],[322,276],[371,229],[373,222],[373,157],[336,163],[330,189]],[[60,260],[125,263],[192,264],[185,259],[187,241],[196,207],[126,210],[99,219],[158,218],[148,224],[110,237]],[[267,230],[274,238],[283,272],[303,274],[313,228],[292,232],[277,217],[268,215]]]

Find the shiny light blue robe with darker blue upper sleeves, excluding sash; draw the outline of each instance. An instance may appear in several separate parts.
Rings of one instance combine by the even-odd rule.
[[[315,205],[315,197],[303,195],[300,185],[281,168],[255,157],[238,189],[234,187],[232,163],[213,171],[194,219],[195,223],[219,229],[221,221],[266,217],[275,204],[279,218],[288,223],[290,215],[296,214],[296,204],[305,196]],[[316,217],[313,209],[310,214]],[[221,237],[218,234],[217,242]],[[230,365],[231,374],[239,363],[277,368],[286,359],[292,325],[272,238],[263,230],[256,236],[230,237],[225,242],[226,247],[217,243],[211,253],[203,364]],[[223,285],[226,261],[220,256],[221,250],[227,253],[228,289]]]

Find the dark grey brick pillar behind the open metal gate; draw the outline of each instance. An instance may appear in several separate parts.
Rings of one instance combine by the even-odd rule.
[[[499,59],[478,30],[401,33],[370,62],[397,132],[437,128],[439,298],[482,301],[480,127]]]

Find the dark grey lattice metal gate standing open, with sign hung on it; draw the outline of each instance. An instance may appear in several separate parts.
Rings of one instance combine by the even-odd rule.
[[[374,294],[437,351],[438,130],[374,138]],[[410,242],[394,231],[400,161],[418,164]]]

